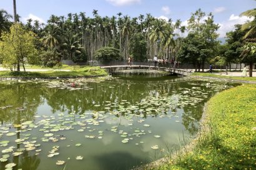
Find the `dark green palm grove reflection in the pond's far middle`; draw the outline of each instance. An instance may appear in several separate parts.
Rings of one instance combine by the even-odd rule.
[[[179,87],[179,83],[140,82],[130,83],[130,80],[115,78],[112,82],[89,83],[89,88],[93,90],[62,90],[58,88],[46,88],[44,97],[48,105],[52,107],[52,112],[56,111],[76,111],[84,113],[86,110],[104,110],[106,101],[135,103],[148,96],[157,96],[169,93]],[[94,105],[101,105],[96,107]],[[114,105],[114,104],[113,104]]]

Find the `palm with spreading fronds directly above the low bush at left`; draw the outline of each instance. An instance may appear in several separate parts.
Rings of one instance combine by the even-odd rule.
[[[61,29],[59,29],[58,26],[49,24],[42,34],[44,35],[44,37],[42,37],[42,43],[46,47],[54,49],[57,45],[61,44]]]

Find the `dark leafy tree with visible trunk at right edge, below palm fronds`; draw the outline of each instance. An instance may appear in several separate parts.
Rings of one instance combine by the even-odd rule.
[[[249,77],[252,77],[252,67],[256,63],[256,43],[249,42],[242,47],[242,60],[249,63]]]

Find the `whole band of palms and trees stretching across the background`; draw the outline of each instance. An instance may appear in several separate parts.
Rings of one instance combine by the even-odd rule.
[[[97,10],[93,10],[93,17],[87,17],[85,12],[52,15],[47,24],[31,19],[24,24],[18,22],[17,16],[13,24],[12,16],[1,10],[0,62],[14,70],[26,63],[53,67],[63,59],[75,63],[127,60],[128,57],[145,61],[157,55],[167,62],[192,64],[199,71],[204,70],[206,63],[227,66],[247,63],[251,70],[256,58],[255,11],[242,14],[252,20],[235,26],[235,31],[227,33],[226,43],[222,45],[217,40],[219,25],[215,24],[214,16],[200,9],[192,13],[186,27],[180,19],[165,21],[150,14],[131,18],[121,12],[101,17]],[[14,40],[15,34],[20,36]],[[22,48],[14,47],[21,44]]]

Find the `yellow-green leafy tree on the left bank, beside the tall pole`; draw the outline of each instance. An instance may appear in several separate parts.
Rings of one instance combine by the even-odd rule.
[[[32,61],[37,56],[35,40],[35,34],[24,29],[21,24],[13,24],[9,33],[4,32],[0,43],[0,56],[5,67],[12,69],[14,65],[21,63],[26,71],[25,62]]]

